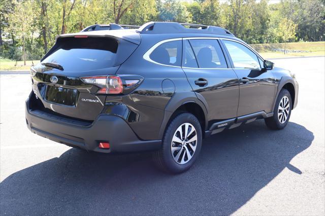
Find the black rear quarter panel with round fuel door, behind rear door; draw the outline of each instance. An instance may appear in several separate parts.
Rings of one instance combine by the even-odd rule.
[[[144,77],[142,84],[129,94],[140,114],[139,121],[130,125],[140,138],[157,139],[161,138],[160,127],[165,116],[165,107],[171,98],[176,92],[192,92],[192,89],[181,67],[159,65],[143,58],[145,52],[154,44],[169,39],[170,35],[141,37],[140,46],[120,66],[116,74]]]

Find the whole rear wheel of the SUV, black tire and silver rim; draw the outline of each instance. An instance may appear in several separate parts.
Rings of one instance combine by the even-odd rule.
[[[199,120],[190,113],[182,113],[167,126],[162,148],[155,152],[153,157],[160,169],[170,173],[181,173],[188,170],[196,161],[201,146],[202,129]]]

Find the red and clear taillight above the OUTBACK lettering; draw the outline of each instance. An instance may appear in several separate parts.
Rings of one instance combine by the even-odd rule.
[[[93,84],[100,87],[98,94],[121,94],[123,93],[123,83],[118,76],[94,76],[81,77],[84,83]]]

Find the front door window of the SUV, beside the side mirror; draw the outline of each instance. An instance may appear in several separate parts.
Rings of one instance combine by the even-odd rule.
[[[233,60],[235,68],[260,68],[256,54],[250,49],[234,41],[223,40],[223,43]]]

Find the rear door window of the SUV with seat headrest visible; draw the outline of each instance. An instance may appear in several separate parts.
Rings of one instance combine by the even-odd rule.
[[[217,40],[190,40],[200,68],[227,68],[224,55]]]

